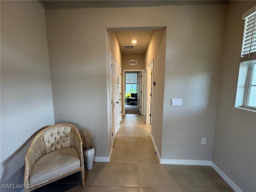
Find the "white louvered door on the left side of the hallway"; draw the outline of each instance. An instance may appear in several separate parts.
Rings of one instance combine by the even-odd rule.
[[[114,140],[116,138],[117,133],[117,64],[116,60],[113,58],[111,54],[111,108],[112,108],[112,145],[114,144]]]

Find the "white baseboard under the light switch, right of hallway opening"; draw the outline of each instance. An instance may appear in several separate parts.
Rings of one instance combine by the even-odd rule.
[[[160,164],[211,166],[211,161],[184,160],[184,159],[161,159]]]

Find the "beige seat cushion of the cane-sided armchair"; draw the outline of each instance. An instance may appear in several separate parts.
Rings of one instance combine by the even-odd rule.
[[[54,150],[35,162],[30,172],[29,183],[31,186],[41,184],[78,168],[80,159],[76,148]]]

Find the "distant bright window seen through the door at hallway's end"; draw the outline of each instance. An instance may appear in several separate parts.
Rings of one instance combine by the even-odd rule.
[[[137,72],[125,72],[125,95],[137,92]]]

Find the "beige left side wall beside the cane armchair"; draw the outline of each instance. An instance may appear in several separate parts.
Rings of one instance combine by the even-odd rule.
[[[28,142],[54,124],[45,12],[1,1],[1,184],[22,184]]]

